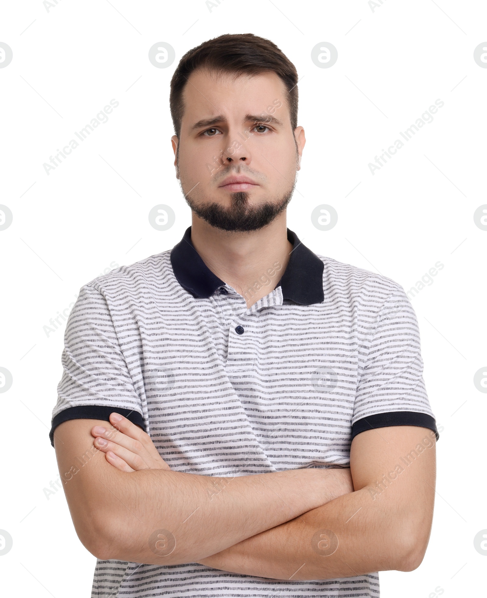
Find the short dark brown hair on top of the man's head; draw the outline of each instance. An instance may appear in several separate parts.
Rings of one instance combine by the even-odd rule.
[[[196,69],[209,69],[216,74],[259,75],[265,71],[275,72],[287,89],[287,103],[291,127],[297,127],[297,71],[293,63],[269,39],[253,33],[226,33],[209,39],[187,51],[171,79],[169,106],[174,131],[179,137],[184,114],[182,92],[188,77]]]

